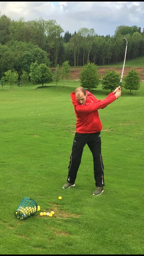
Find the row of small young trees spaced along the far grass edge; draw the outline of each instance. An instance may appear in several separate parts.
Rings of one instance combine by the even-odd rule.
[[[21,75],[21,80],[27,81],[30,76],[30,80],[34,84],[42,84],[50,83],[52,81],[56,81],[56,88],[57,82],[60,79],[68,79],[70,78],[70,65],[68,61],[62,64],[62,68],[60,69],[59,64],[57,65],[54,73],[50,68],[46,66],[46,64],[38,65],[38,62],[34,62],[30,66],[30,73],[26,73],[24,70]],[[18,80],[18,73],[12,72],[12,70],[8,70],[5,72],[5,77],[1,78],[1,84],[7,80],[10,83],[11,90],[13,90],[13,84]],[[110,90],[111,92],[118,86],[120,82],[120,75],[116,73],[116,71],[109,71],[102,79],[98,75],[98,68],[94,63],[88,62],[84,65],[83,70],[80,72],[80,84],[84,88],[91,90],[92,88],[97,88],[99,84],[102,85],[102,89]],[[124,88],[130,90],[138,90],[140,88],[140,76],[136,70],[132,69],[127,76],[124,77]]]

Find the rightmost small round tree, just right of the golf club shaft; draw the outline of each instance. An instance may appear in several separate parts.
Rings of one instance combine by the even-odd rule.
[[[139,90],[140,88],[140,76],[138,75],[138,72],[134,69],[130,70],[127,74],[127,76],[123,79],[124,82],[124,88],[126,90]]]

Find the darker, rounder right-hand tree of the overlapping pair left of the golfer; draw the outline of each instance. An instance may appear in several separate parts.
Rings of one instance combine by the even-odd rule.
[[[46,66],[46,64],[44,63],[40,64],[39,70],[41,73],[40,79],[38,80],[39,84],[42,84],[42,86],[44,86],[45,83],[50,83],[53,81],[52,71],[50,70],[50,68]]]

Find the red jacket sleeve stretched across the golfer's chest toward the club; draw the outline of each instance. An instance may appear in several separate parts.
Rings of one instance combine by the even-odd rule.
[[[88,104],[87,103],[84,105],[78,104],[75,106],[75,110],[76,110],[76,112],[78,112],[78,114],[90,113],[90,112],[93,112],[94,110],[98,110],[100,108],[105,108],[110,103],[112,103],[114,100],[116,100],[116,96],[114,95],[113,92],[111,92],[110,94],[108,94],[108,97],[106,97],[104,100],[96,99],[95,102],[91,102]]]

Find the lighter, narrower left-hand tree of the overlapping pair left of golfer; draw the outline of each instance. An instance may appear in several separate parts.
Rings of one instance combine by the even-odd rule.
[[[41,78],[41,72],[40,72],[40,68],[38,66],[38,62],[37,60],[30,65],[30,80],[33,82],[34,84],[34,89],[35,89],[35,84],[38,82],[38,80],[40,80]]]

